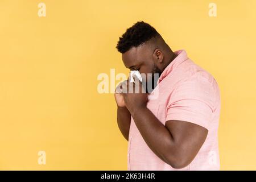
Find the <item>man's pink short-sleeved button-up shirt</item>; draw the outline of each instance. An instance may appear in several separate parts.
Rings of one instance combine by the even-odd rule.
[[[144,142],[131,117],[128,142],[128,170],[219,170],[218,120],[220,92],[216,80],[193,63],[184,50],[164,69],[147,107],[163,125],[168,120],[195,123],[208,129],[195,159],[187,167],[174,169],[154,154]]]

